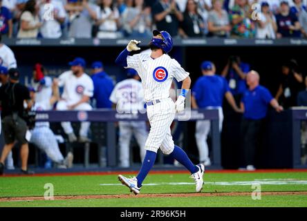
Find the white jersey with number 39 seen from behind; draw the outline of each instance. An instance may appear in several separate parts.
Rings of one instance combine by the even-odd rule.
[[[142,83],[136,79],[125,79],[115,85],[110,101],[117,104],[120,113],[138,113],[144,110]]]

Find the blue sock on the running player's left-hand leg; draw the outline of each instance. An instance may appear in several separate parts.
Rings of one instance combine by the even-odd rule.
[[[151,170],[151,167],[154,166],[156,161],[157,153],[154,151],[146,151],[144,161],[142,163],[142,167],[140,169],[140,172],[138,172],[138,175],[136,179],[138,179],[138,187],[140,188],[142,186],[142,182],[145,180],[145,177]]]

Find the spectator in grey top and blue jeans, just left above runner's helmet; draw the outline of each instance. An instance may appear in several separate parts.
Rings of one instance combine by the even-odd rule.
[[[144,0],[127,1],[127,8],[121,17],[126,37],[146,38],[151,36],[151,11],[149,7],[145,8]]]

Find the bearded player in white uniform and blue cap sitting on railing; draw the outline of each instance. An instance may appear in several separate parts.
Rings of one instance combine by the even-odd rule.
[[[90,97],[93,96],[93,80],[89,75],[84,73],[86,63],[81,57],[75,58],[69,63],[71,70],[59,75],[59,86],[64,87],[62,99],[57,103],[58,111],[91,111],[92,106],[89,104]],[[71,122],[62,122],[64,132],[68,135],[70,142],[76,142],[77,137],[73,132]],[[79,131],[79,142],[89,142],[87,137],[90,122],[82,122]]]

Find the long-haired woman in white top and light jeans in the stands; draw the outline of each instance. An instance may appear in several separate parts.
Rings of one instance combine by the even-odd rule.
[[[99,26],[98,38],[115,39],[121,37],[121,33],[118,31],[120,27],[120,13],[113,6],[111,0],[100,0],[100,14],[96,25]]]

